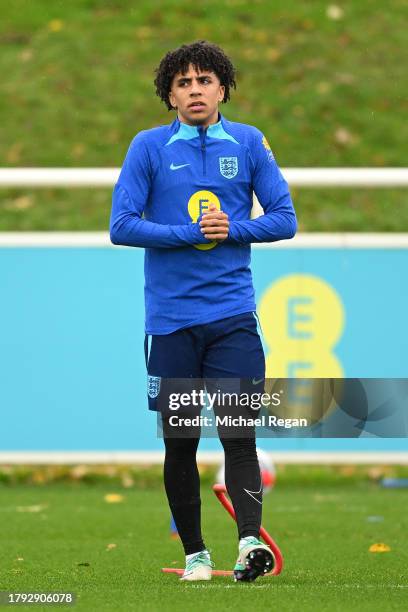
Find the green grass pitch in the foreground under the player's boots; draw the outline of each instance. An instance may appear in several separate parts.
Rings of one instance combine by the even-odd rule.
[[[205,539],[217,567],[230,569],[235,527],[209,480],[202,495]],[[112,492],[123,502],[106,503]],[[278,471],[278,484],[265,498],[264,525],[282,548],[285,568],[251,585],[229,578],[180,584],[160,572],[182,566],[183,554],[169,537],[157,479],[149,488],[128,489],[113,483],[3,485],[0,499],[2,590],[71,590],[77,609],[90,611],[406,609],[408,491],[381,489],[350,468]],[[31,506],[38,511],[27,511]],[[391,551],[370,553],[377,542]]]

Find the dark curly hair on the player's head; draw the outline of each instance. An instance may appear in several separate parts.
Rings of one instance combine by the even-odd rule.
[[[156,94],[165,103],[168,110],[174,110],[169,101],[171,84],[176,74],[186,74],[189,65],[198,70],[214,72],[225,87],[223,102],[230,99],[230,89],[236,88],[235,68],[224,51],[217,45],[206,40],[198,40],[189,45],[182,45],[174,51],[169,51],[156,68]]]

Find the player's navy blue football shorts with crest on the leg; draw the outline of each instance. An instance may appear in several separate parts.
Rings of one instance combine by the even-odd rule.
[[[248,380],[252,390],[259,390],[265,357],[258,330],[256,313],[247,312],[171,334],[146,335],[149,409],[164,415],[174,384],[177,391],[189,393],[198,381],[208,389],[216,381],[228,381],[228,386]]]

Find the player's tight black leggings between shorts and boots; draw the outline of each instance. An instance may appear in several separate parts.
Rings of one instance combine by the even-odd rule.
[[[199,437],[166,437],[164,486],[186,555],[205,549],[201,535],[200,477],[196,453]],[[171,429],[171,428],[170,428]],[[181,432],[180,432],[181,433]],[[220,438],[225,453],[225,484],[237,517],[238,536],[259,537],[262,481],[253,438]]]

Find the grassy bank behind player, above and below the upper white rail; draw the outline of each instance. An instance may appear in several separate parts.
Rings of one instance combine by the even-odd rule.
[[[402,166],[406,3],[299,0],[14,0],[0,21],[0,166],[119,166],[172,115],[154,68],[197,38],[225,48],[238,89],[223,107],[257,125],[281,166]],[[296,190],[300,229],[407,231],[404,190]],[[0,230],[106,229],[109,190],[7,190]]]

